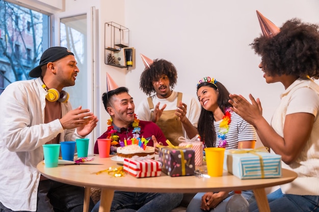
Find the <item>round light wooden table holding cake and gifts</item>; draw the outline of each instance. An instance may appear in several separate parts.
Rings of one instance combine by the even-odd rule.
[[[240,179],[224,170],[221,177],[196,177],[179,176],[171,177],[162,172],[158,177],[136,178],[129,174],[123,177],[115,177],[98,171],[107,170],[110,167],[119,167],[111,158],[99,158],[80,165],[59,165],[55,168],[46,168],[43,161],[37,165],[37,169],[45,177],[62,183],[85,187],[85,200],[83,211],[89,208],[91,187],[101,189],[101,201],[99,212],[110,211],[115,190],[129,192],[159,192],[159,193],[196,193],[218,192],[233,190],[253,190],[260,212],[270,212],[267,196],[264,188],[282,185],[293,181],[297,174],[293,171],[282,169],[282,177],[266,179]],[[89,163],[101,165],[87,165]],[[199,167],[205,169],[205,166]]]

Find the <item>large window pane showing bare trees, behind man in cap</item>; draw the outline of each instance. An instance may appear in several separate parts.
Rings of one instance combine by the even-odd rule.
[[[30,79],[48,48],[49,16],[0,0],[0,94],[14,81]]]

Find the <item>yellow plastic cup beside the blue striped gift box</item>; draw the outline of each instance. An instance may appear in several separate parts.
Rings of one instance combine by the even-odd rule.
[[[205,148],[207,173],[209,176],[223,176],[225,148],[208,147]]]

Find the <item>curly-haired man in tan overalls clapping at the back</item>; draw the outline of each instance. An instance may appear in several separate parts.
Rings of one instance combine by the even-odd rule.
[[[172,90],[176,82],[177,71],[171,62],[155,59],[147,64],[141,74],[140,88],[150,97],[137,110],[141,120],[156,123],[173,145],[178,145],[180,136],[193,138],[198,134],[200,114],[195,98]]]

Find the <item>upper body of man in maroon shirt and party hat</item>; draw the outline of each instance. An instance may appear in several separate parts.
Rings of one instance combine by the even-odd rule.
[[[119,99],[120,97],[122,99]],[[140,127],[139,137],[143,136],[149,140],[147,145],[154,146],[152,136],[155,136],[156,141],[167,145],[166,137],[158,126],[152,122],[139,120],[139,117],[135,114],[135,104],[133,98],[128,94],[128,89],[126,87],[119,87],[109,73],[107,73],[107,92],[103,93],[102,101],[105,110],[107,110],[111,118],[108,120],[108,130],[99,138],[110,137],[113,139],[111,154],[116,154],[116,148],[120,146],[119,141],[132,138],[136,134],[134,122],[137,122],[138,127]],[[113,136],[113,134],[116,134],[116,136]],[[94,145],[94,154],[98,154],[97,141]]]

